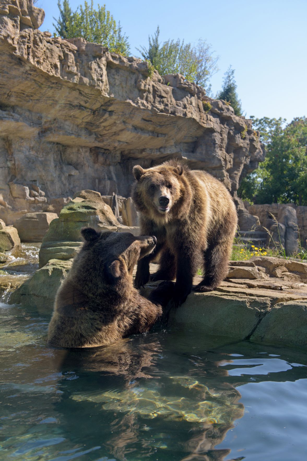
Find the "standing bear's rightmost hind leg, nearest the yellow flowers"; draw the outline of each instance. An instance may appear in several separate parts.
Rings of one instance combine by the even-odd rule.
[[[209,244],[204,252],[205,276],[194,288],[198,292],[215,290],[228,274],[233,239]]]

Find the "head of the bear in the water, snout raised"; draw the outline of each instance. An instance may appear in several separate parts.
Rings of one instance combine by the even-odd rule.
[[[124,293],[132,286],[135,264],[156,246],[155,236],[135,237],[128,232],[101,232],[84,227],[81,235],[85,242],[74,258],[70,280],[92,297],[108,291]]]

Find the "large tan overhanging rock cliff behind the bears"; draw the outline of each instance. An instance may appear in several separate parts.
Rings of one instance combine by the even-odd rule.
[[[0,0],[0,218],[11,224],[48,204],[58,213],[81,189],[127,197],[133,165],[170,157],[236,196],[264,159],[250,120],[179,74],[53,38],[38,30],[43,18],[32,0]]]

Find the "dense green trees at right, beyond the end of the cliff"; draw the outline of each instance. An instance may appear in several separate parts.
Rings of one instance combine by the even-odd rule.
[[[307,119],[253,118],[266,144],[266,159],[243,179],[238,190],[256,203],[307,205]]]

